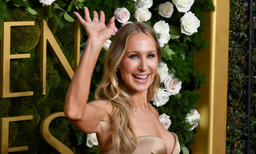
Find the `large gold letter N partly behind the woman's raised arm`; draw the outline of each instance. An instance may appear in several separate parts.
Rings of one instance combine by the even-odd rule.
[[[74,68],[79,62],[80,55],[80,24],[75,24],[75,59],[74,59]],[[65,70],[66,75],[69,79],[72,79],[74,76],[74,71],[69,65],[65,55],[60,49],[57,41],[55,40],[52,32],[45,23],[45,20],[41,20],[41,40],[40,40],[40,79],[43,82],[43,95],[46,94],[46,44],[50,45],[53,54],[55,55],[57,61],[61,64],[62,68]]]

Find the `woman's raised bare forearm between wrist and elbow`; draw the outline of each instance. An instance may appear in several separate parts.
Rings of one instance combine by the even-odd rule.
[[[64,112],[69,119],[79,120],[83,116],[89,96],[91,77],[103,43],[103,41],[93,39],[88,39],[86,42],[82,58],[66,95]]]

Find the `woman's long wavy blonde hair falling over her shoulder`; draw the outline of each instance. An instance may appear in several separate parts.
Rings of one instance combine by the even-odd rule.
[[[130,93],[122,81],[118,67],[123,59],[128,39],[133,34],[145,33],[155,42],[157,47],[158,63],[161,60],[161,47],[154,30],[145,23],[135,22],[122,26],[114,35],[113,41],[105,55],[104,74],[101,83],[95,91],[95,98],[107,100],[113,105],[112,115],[112,140],[114,149],[120,151],[120,142],[123,143],[124,152],[132,153],[137,144],[137,137],[131,123],[133,100]],[[118,78],[118,85],[116,81]],[[160,76],[158,72],[153,83],[147,91],[147,101],[149,102],[156,89],[160,86]],[[128,130],[132,133],[134,140],[129,137]]]

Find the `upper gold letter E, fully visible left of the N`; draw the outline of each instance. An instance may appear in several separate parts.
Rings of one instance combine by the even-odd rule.
[[[35,22],[3,22],[1,39],[0,95],[2,98],[32,96],[33,92],[10,93],[10,59],[30,58],[30,54],[11,54],[11,26],[34,26]]]

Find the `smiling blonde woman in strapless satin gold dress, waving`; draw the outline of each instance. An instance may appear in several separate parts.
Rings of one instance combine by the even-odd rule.
[[[162,126],[157,110],[148,103],[160,85],[161,47],[147,24],[131,23],[118,30],[105,56],[97,100],[86,103],[99,52],[114,32],[114,18],[106,28],[102,11],[99,20],[93,12],[93,22],[88,8],[84,12],[85,20],[75,14],[88,40],[67,92],[65,116],[81,132],[97,134],[101,154],[178,154],[177,135]]]

